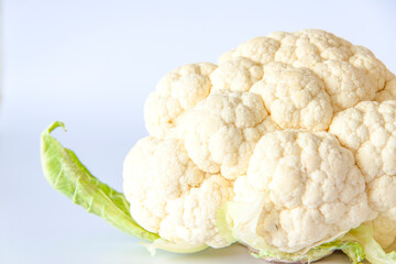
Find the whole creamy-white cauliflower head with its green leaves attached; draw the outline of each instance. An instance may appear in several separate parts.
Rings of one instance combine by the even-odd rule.
[[[124,195],[50,135],[61,122],[42,135],[47,180],[151,251],[396,262],[381,248],[396,249],[396,76],[367,48],[321,30],[256,37],[165,75],[144,120]]]

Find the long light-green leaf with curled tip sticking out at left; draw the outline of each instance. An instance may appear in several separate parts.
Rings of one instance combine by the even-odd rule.
[[[94,177],[73,151],[63,147],[51,135],[59,127],[65,130],[64,123],[54,122],[41,136],[42,167],[50,185],[88,212],[130,235],[151,242],[158,239],[157,234],[144,230],[133,220],[123,194]]]

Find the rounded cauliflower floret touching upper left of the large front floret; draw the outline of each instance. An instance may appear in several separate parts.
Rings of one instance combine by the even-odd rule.
[[[273,129],[262,99],[252,92],[217,90],[186,114],[188,155],[204,172],[229,179],[246,172],[256,142]]]

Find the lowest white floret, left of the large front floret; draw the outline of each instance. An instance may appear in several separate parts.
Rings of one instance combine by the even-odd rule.
[[[219,207],[231,197],[232,184],[220,175],[212,175],[199,188],[168,201],[167,216],[158,234],[176,243],[228,245],[219,234],[216,221]]]

